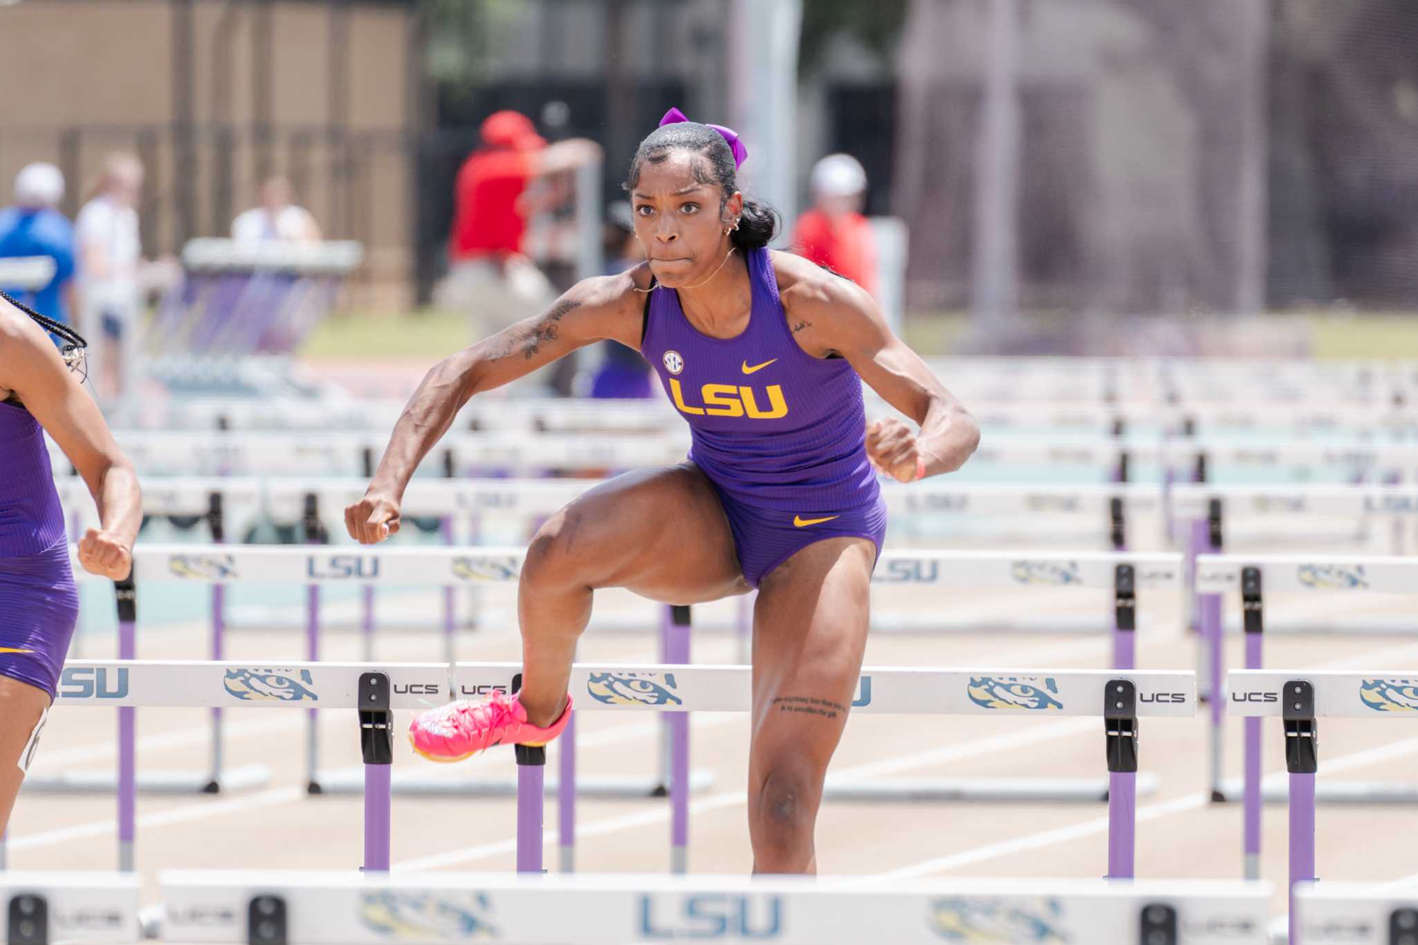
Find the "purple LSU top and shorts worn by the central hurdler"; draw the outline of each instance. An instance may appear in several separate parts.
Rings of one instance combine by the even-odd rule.
[[[842,536],[881,555],[886,504],[866,459],[862,381],[844,358],[793,339],[767,249],[744,252],[753,307],[732,339],[703,334],[674,289],[649,296],[641,354],[689,421],[693,460],[713,483],[753,587],[801,548]]]

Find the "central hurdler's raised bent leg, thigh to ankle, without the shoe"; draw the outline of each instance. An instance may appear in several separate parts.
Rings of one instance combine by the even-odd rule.
[[[518,587],[522,696],[533,725],[566,704],[591,592],[628,588],[664,604],[749,589],[719,496],[693,465],[625,473],[556,513],[527,545]]]

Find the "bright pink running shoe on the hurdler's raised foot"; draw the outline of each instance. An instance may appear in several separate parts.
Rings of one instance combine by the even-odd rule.
[[[481,701],[464,698],[415,715],[408,744],[428,761],[462,761],[493,745],[545,745],[570,718],[570,694],[562,717],[537,728],[527,723],[527,710],[516,696],[495,691]]]

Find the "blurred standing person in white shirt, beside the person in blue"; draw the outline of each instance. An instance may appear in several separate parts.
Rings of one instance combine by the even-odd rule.
[[[128,153],[104,160],[94,197],[74,222],[78,238],[81,323],[89,341],[89,375],[104,395],[121,395],[138,343],[142,242],[138,196],[143,164]]]

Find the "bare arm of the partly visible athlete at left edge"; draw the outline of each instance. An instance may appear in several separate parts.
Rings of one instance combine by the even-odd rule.
[[[18,395],[94,494],[101,527],[79,540],[79,564],[121,581],[132,571],[133,541],[143,521],[133,463],[44,330],[9,303],[0,306],[6,309],[0,312],[0,388]]]

